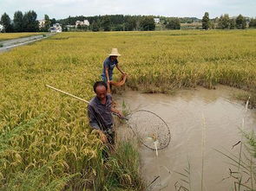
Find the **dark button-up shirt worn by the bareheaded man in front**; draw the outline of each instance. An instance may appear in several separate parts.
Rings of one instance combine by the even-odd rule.
[[[107,94],[106,104],[103,105],[101,100],[96,96],[90,100],[88,105],[89,124],[92,128],[106,131],[113,124],[111,112],[112,97]]]

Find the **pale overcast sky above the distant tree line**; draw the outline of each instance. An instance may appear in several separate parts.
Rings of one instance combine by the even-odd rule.
[[[98,15],[154,15],[195,16],[209,12],[210,18],[229,16],[256,16],[256,0],[0,0],[0,15],[10,18],[16,10],[35,10],[38,19],[44,14],[50,18]]]

